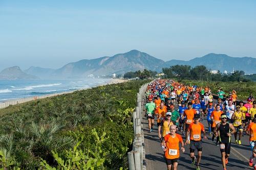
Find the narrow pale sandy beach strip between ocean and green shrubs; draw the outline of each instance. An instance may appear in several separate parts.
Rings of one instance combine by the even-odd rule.
[[[111,81],[109,83],[100,84],[99,86],[103,86],[103,85],[107,85],[107,84],[123,83],[123,82],[127,82],[127,81],[129,81],[129,80],[111,79]],[[78,89],[78,90],[86,90],[86,89],[89,89],[89,88],[83,88],[83,89]],[[26,103],[26,102],[33,101],[33,100],[50,98],[52,96],[61,95],[61,94],[68,94],[68,93],[72,93],[74,91],[77,91],[77,90],[65,91],[65,92],[60,92],[60,93],[52,93],[52,94],[46,94],[46,95],[40,95],[40,96],[35,95],[35,96],[30,97],[30,98],[20,98],[20,99],[14,99],[14,100],[7,100],[7,101],[3,101],[3,103],[0,103],[0,109],[6,108],[10,105],[17,105],[17,104],[20,104],[20,103]]]

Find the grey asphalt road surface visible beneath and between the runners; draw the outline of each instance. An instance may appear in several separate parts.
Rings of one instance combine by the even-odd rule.
[[[214,101],[216,103],[216,101]],[[208,132],[207,120],[204,119],[200,121],[206,132]],[[155,169],[167,169],[165,160],[163,158],[163,151],[161,149],[160,141],[158,138],[156,120],[154,125],[154,131],[148,131],[147,119],[143,118],[143,127],[144,127],[144,143],[145,143],[145,153],[146,153],[146,169],[155,170]],[[180,131],[178,134],[182,134]],[[183,141],[185,142],[185,136],[182,135]],[[217,146],[216,139],[214,142],[211,141],[211,136],[207,135],[208,140],[202,139],[203,141],[203,150],[202,150],[202,159],[200,162],[200,169],[223,169],[221,163],[221,153],[219,146]],[[232,135],[232,144],[231,152],[228,159],[228,164],[226,168],[236,170],[236,169],[253,169],[248,165],[248,160],[251,155],[250,146],[249,146],[249,136],[245,135],[242,137],[242,144],[234,143],[234,136]],[[185,152],[180,152],[180,159],[178,164],[178,169],[195,169],[195,165],[191,164],[191,158],[189,156],[189,144],[185,145]],[[195,152],[197,155],[197,151]],[[254,163],[256,163],[254,161]]]

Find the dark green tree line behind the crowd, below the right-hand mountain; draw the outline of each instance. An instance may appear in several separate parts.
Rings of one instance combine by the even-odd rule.
[[[174,65],[169,68],[163,68],[163,73],[168,78],[178,78],[178,80],[205,80],[205,81],[222,81],[222,82],[249,82],[244,76],[244,71],[234,71],[232,74],[211,74],[204,65],[198,65],[192,68],[189,65]]]

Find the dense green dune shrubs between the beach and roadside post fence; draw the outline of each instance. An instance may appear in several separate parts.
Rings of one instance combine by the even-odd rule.
[[[99,86],[0,110],[0,169],[119,169],[146,81]]]

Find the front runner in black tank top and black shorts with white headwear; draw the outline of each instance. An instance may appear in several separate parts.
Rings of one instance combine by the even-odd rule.
[[[221,123],[214,129],[215,136],[220,136],[220,150],[223,170],[226,170],[231,149],[231,135],[236,132],[232,124],[227,123],[227,115],[221,114]]]

